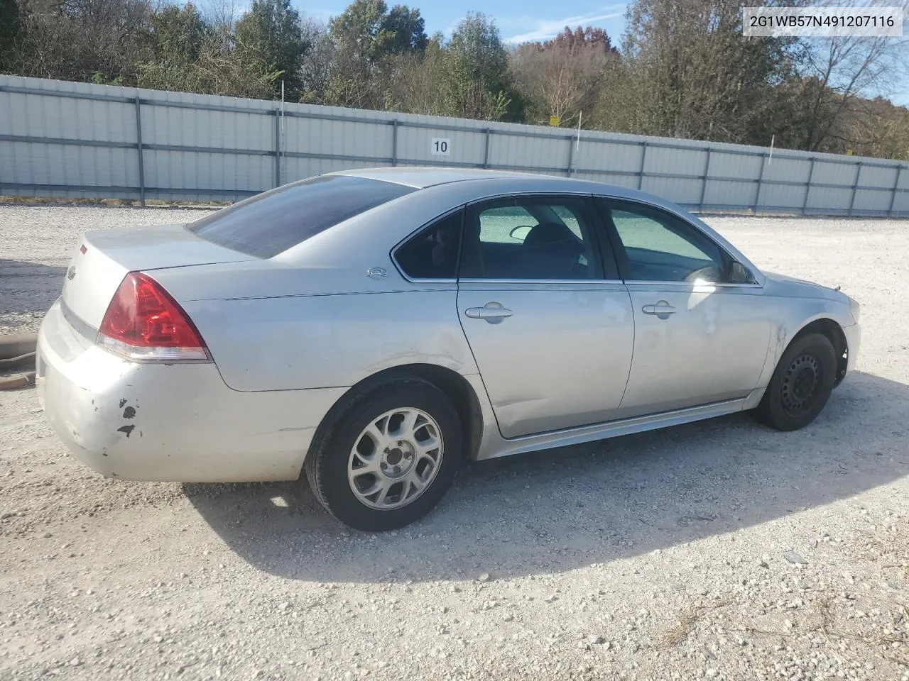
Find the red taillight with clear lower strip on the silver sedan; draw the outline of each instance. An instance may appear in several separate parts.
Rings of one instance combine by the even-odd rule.
[[[144,272],[127,274],[107,306],[98,342],[135,360],[207,360],[185,311]]]

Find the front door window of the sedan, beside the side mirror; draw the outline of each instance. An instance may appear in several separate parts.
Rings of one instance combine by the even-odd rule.
[[[674,215],[632,202],[607,204],[628,281],[724,281],[723,251]]]

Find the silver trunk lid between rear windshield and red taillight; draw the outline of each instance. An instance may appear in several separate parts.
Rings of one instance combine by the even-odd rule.
[[[97,330],[127,272],[252,260],[256,258],[206,242],[179,224],[85,232],[66,270],[63,301]]]

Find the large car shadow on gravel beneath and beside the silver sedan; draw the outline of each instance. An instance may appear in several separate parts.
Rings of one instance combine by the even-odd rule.
[[[238,555],[281,577],[516,577],[607,563],[849,498],[909,473],[909,386],[854,372],[806,429],[747,414],[464,469],[429,517],[349,532],[304,482],[185,485]]]

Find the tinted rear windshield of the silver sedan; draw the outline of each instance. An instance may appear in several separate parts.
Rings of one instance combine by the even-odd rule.
[[[186,229],[234,251],[271,258],[347,218],[413,192],[402,184],[320,175],[256,194]]]

